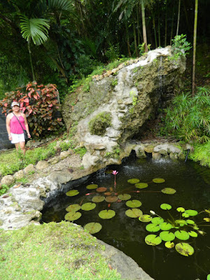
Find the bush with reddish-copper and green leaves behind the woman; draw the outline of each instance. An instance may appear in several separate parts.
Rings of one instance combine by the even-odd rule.
[[[2,113],[7,115],[12,111],[10,104],[20,102],[20,111],[25,113],[31,134],[43,137],[63,125],[62,118],[56,117],[59,111],[58,91],[56,85],[37,85],[34,81],[24,87],[18,87],[13,92],[6,92],[0,101]]]

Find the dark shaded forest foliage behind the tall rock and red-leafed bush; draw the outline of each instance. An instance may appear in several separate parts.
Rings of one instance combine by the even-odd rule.
[[[32,80],[27,41],[21,34],[21,16],[48,21],[48,40],[30,43],[38,83],[55,83],[62,95],[72,80],[87,76],[97,64],[117,55],[137,56],[143,42],[143,0],[2,0],[0,3],[0,91]],[[195,1],[181,1],[179,34],[193,42]],[[144,1],[147,41],[154,49],[176,35],[179,0]],[[209,43],[209,1],[199,1],[197,43]],[[108,55],[107,55],[108,54]]]

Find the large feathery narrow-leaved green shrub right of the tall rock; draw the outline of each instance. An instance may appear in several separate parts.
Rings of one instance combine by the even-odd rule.
[[[166,110],[166,128],[183,141],[205,143],[210,141],[210,89],[198,87],[195,97],[176,96]]]

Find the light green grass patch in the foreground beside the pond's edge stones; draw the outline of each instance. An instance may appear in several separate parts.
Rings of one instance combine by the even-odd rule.
[[[72,223],[0,231],[1,280],[120,280],[97,252],[97,239]]]

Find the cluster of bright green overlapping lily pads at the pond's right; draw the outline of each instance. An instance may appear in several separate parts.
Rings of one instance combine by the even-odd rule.
[[[172,209],[172,206],[163,203],[160,205],[160,208],[169,211]],[[156,246],[162,243],[162,241],[165,241],[167,248],[174,248],[174,242],[178,242],[175,246],[178,253],[185,256],[193,255],[193,247],[184,241],[187,241],[190,237],[198,236],[197,232],[199,232],[199,228],[195,221],[189,218],[197,216],[198,213],[195,210],[186,210],[183,207],[177,208],[176,211],[179,212],[179,219],[174,219],[171,214],[169,214],[167,220],[160,216],[152,218],[150,215],[143,215],[139,217],[139,221],[141,222],[151,222],[146,225],[146,230],[152,232],[152,234],[146,236],[145,242],[148,245]],[[151,211],[151,213],[155,214],[154,211]]]

